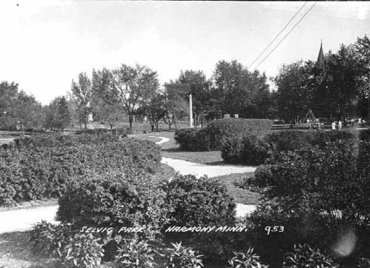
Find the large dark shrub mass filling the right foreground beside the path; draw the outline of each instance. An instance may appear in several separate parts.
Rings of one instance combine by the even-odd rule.
[[[312,133],[310,144],[282,151],[258,166],[247,183],[263,198],[247,219],[248,241],[276,267],[281,267],[284,250],[294,243],[335,250],[333,245],[352,234],[356,248],[350,258],[369,258],[369,151],[369,142],[356,140],[351,133]],[[284,232],[266,235],[266,226],[284,226]],[[338,259],[348,261],[347,256]]]

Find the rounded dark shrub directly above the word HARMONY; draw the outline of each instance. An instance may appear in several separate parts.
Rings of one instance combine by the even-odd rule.
[[[166,202],[173,207],[170,225],[234,224],[234,198],[218,180],[178,175],[162,189],[167,194]]]

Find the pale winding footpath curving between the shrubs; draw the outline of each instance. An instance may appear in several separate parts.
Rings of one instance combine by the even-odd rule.
[[[170,140],[167,137],[155,137],[160,139],[156,144],[163,144]],[[182,175],[192,174],[197,177],[204,175],[214,177],[227,174],[254,172],[256,170],[256,167],[206,165],[167,157],[162,157],[162,163],[173,167],[176,172],[179,172]],[[254,209],[256,209],[256,206],[254,205],[236,204],[236,216],[242,217],[251,213]],[[41,220],[56,223],[55,217],[57,211],[58,205],[0,211],[0,233],[30,230],[34,224],[41,222]]]

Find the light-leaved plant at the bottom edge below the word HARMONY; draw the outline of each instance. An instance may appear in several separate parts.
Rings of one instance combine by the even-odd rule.
[[[202,255],[195,255],[196,252],[191,247],[184,247],[180,243],[171,243],[172,247],[165,254],[166,268],[201,268]]]

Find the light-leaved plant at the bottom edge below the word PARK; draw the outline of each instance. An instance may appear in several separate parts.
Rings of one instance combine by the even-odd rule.
[[[145,241],[126,240],[118,249],[114,267],[152,268],[156,266],[154,255],[153,250]]]

